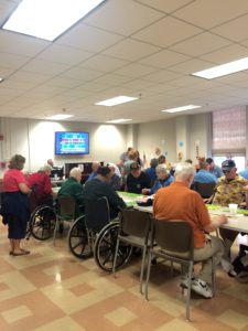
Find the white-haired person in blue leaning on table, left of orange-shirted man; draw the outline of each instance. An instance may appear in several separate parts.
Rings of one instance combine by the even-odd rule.
[[[171,175],[165,164],[159,164],[155,168],[157,180],[151,189],[143,189],[142,194],[154,194],[159,189],[169,186],[174,182],[174,177]]]

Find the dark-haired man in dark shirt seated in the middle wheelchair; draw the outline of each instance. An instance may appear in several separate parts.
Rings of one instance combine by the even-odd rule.
[[[99,167],[97,177],[85,184],[84,199],[95,201],[98,197],[106,196],[109,203],[110,218],[115,218],[119,210],[126,207],[126,203],[110,186],[111,175],[109,167]]]

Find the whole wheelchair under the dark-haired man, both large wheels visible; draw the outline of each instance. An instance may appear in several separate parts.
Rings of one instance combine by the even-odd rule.
[[[106,197],[100,197],[94,203],[86,202],[86,215],[78,217],[72,225],[68,233],[68,248],[78,258],[94,256],[97,266],[110,273],[112,271],[119,222],[110,221]],[[131,253],[130,245],[119,246],[117,269],[128,263]]]

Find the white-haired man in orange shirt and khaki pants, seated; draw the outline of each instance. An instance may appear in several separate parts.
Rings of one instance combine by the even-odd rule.
[[[194,260],[202,261],[202,270],[198,277],[193,279],[192,289],[205,298],[212,298],[213,293],[208,286],[212,281],[212,261],[220,261],[224,247],[217,237],[206,236],[227,222],[224,215],[211,220],[207,209],[195,191],[190,190],[195,170],[190,163],[179,163],[175,167],[175,182],[170,186],[159,190],[153,202],[154,217],[161,222],[170,220],[183,220],[188,222],[194,231]],[[182,286],[186,286],[186,279]]]

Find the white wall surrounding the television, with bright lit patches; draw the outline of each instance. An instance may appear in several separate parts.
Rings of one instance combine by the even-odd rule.
[[[88,156],[54,156],[55,131],[89,132]],[[43,121],[34,119],[2,118],[1,160],[8,160],[15,153],[26,158],[26,170],[36,171],[47,159],[56,166],[65,162],[111,161],[118,162],[126,150],[127,127],[69,121]]]

